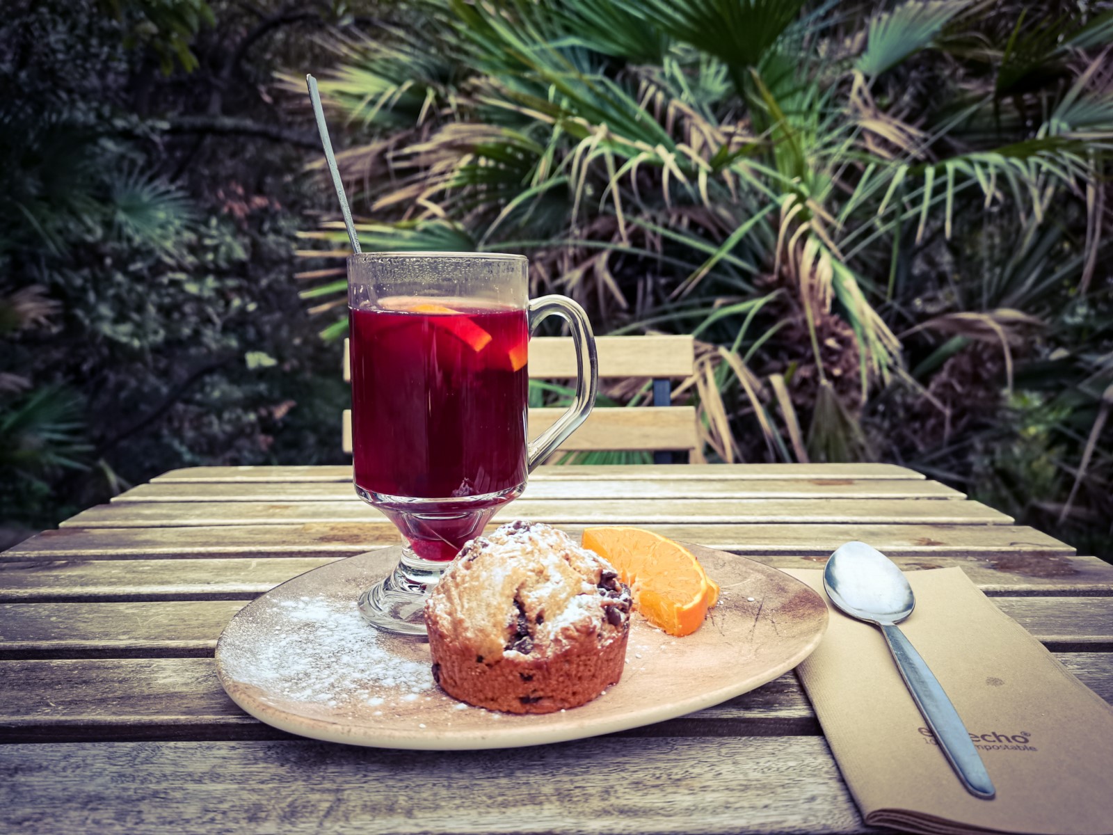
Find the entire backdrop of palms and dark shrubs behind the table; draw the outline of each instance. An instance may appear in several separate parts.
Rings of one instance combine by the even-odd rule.
[[[696,334],[707,460],[892,461],[1113,554],[1111,42],[1057,0],[10,3],[0,522],[343,461],[312,70],[365,248]]]

